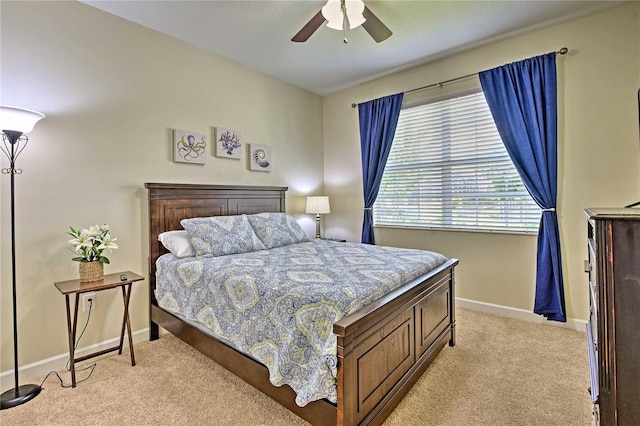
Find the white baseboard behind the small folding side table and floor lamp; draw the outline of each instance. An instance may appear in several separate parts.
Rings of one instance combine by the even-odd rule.
[[[144,328],[142,330],[138,330],[132,333],[133,343],[145,342],[149,340],[149,328]],[[100,343],[96,343],[95,345],[87,346],[85,348],[80,348],[76,351],[76,357],[81,357],[93,352],[100,351],[102,349],[107,349],[113,346],[117,346],[120,343],[120,337],[115,337],[113,339],[105,340]],[[127,339],[124,341],[123,354],[128,356],[128,342]],[[69,359],[69,353],[65,352],[60,355],[52,356],[51,358],[43,359],[41,361],[36,361],[31,364],[23,365],[18,369],[18,378],[19,385],[24,384],[37,384],[33,383],[33,380],[46,376],[51,371],[60,371],[64,370],[67,365],[67,360]],[[12,389],[15,386],[15,378],[13,375],[13,370],[3,371],[0,373],[0,387],[2,389]]]

